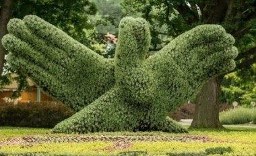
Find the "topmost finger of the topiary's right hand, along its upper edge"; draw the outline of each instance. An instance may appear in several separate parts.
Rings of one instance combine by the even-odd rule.
[[[180,57],[184,52],[191,51],[193,48],[215,42],[220,44],[216,45],[216,48],[221,48],[225,44],[226,47],[232,46],[234,37],[227,35],[225,29],[220,25],[199,25],[176,37],[156,55],[165,55],[172,58]]]

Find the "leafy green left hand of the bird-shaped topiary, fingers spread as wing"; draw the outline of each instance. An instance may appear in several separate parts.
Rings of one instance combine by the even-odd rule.
[[[113,60],[36,15],[11,19],[8,31],[2,40],[9,51],[8,64],[73,110],[84,108],[113,86]]]

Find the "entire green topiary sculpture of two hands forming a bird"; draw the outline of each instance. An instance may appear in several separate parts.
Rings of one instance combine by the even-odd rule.
[[[125,17],[114,59],[105,59],[54,25],[27,15],[11,19],[2,43],[9,65],[78,111],[55,133],[184,132],[166,117],[207,78],[235,67],[234,38],[220,25],[199,25],[146,59],[146,20]]]

